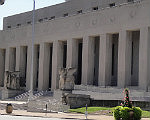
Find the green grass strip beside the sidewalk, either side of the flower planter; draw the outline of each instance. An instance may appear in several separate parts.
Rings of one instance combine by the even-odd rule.
[[[98,111],[102,110],[110,110],[113,111],[114,108],[109,108],[109,107],[88,107],[87,111],[88,113],[95,113]],[[85,107],[82,108],[77,108],[77,109],[70,109],[70,112],[75,112],[75,113],[82,113],[85,114]],[[112,113],[108,113],[107,115],[113,115]],[[150,118],[150,111],[144,111],[142,110],[142,118]]]

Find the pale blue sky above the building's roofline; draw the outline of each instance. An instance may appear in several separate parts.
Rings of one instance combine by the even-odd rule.
[[[35,0],[36,9],[59,4],[65,0]],[[33,0],[5,0],[0,6],[0,30],[3,29],[3,17],[19,14],[33,9]]]

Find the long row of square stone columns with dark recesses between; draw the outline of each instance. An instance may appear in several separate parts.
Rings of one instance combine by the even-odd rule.
[[[31,46],[0,49],[0,85],[5,71],[20,71],[30,89]],[[5,65],[4,65],[5,64]],[[34,89],[58,89],[58,70],[77,68],[75,83],[96,86],[150,85],[150,29],[121,30],[34,46]]]

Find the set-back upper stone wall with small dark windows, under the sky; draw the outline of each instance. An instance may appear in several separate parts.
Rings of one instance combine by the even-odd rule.
[[[139,1],[139,0],[134,0]],[[102,9],[106,7],[119,6],[120,4],[128,3],[127,0],[71,0],[65,3],[45,7],[36,10],[35,21],[43,22],[51,19],[60,18],[64,16],[76,15],[87,11],[93,11],[94,9]],[[28,25],[32,23],[32,11],[21,13],[4,18],[4,29],[16,28],[22,25]]]

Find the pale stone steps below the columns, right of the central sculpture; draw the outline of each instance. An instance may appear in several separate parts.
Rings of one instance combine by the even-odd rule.
[[[90,95],[93,100],[122,100],[124,98],[123,90],[109,87],[75,86],[73,94]],[[130,98],[133,101],[150,101],[150,92],[132,88],[130,89]]]

